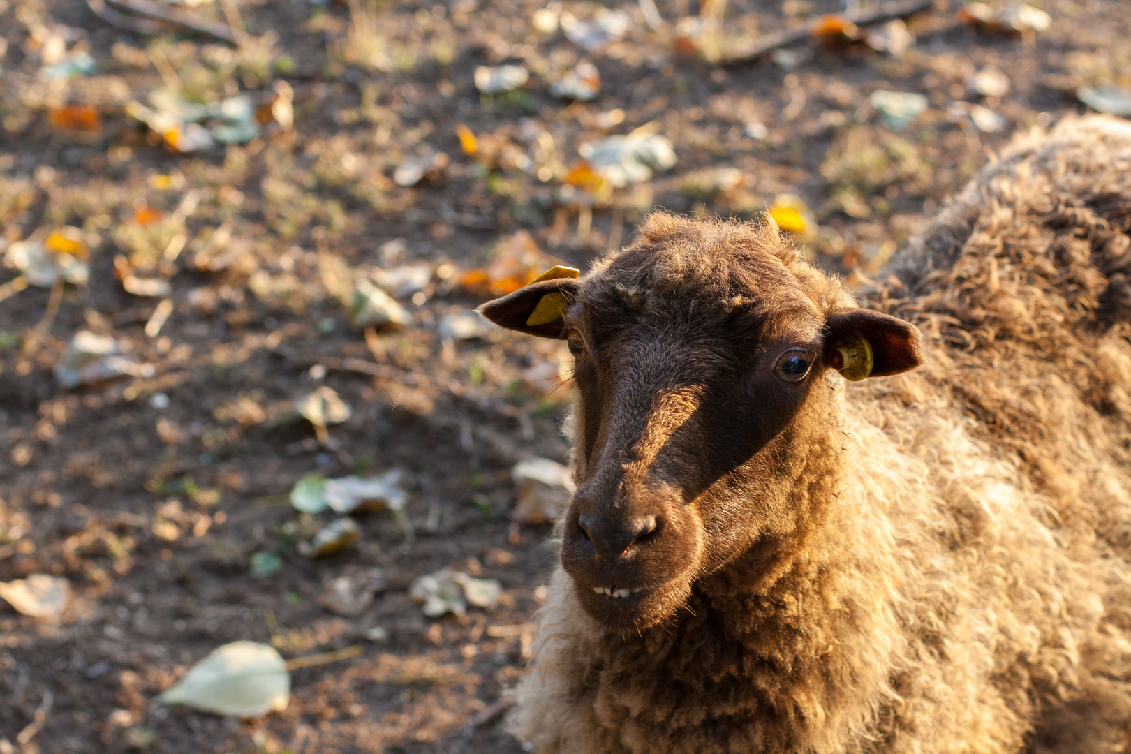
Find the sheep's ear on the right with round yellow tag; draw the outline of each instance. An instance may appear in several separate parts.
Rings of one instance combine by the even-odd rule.
[[[887,376],[923,363],[923,336],[909,322],[867,309],[831,314],[824,361],[846,380]]]

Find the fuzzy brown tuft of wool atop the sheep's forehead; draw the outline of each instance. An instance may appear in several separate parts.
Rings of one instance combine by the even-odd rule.
[[[821,314],[856,306],[840,281],[810,265],[766,215],[744,222],[653,213],[638,231],[636,243],[603,259],[592,276],[630,310],[644,311],[653,300],[723,311],[811,305]]]

